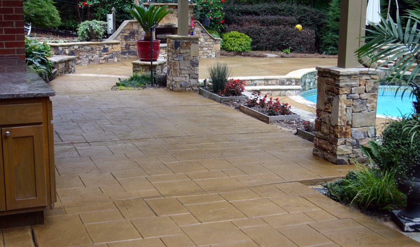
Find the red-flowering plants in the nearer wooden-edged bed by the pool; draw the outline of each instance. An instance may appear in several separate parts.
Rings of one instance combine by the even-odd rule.
[[[257,107],[259,112],[269,116],[292,114],[290,111],[291,105],[278,101],[278,97],[275,99],[267,98],[267,94],[261,97],[260,92],[253,92],[252,94],[254,97],[246,102],[248,107]]]

